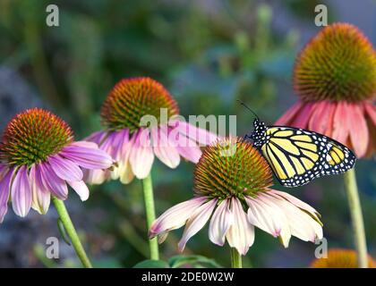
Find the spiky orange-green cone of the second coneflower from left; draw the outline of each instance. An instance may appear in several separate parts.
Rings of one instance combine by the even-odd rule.
[[[162,108],[167,112],[167,118],[161,116]],[[108,130],[129,129],[131,132],[141,127],[144,115],[151,115],[162,124],[177,114],[179,108],[174,98],[158,81],[150,78],[120,80],[101,110],[102,123]]]

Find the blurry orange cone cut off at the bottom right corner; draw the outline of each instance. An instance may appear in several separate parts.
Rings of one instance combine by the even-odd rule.
[[[312,268],[357,268],[356,251],[353,249],[330,248],[328,257],[316,258],[312,261]],[[371,256],[367,257],[368,267],[375,268],[376,263]]]

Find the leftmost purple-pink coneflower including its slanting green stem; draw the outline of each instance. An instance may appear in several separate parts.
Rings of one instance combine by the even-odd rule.
[[[81,168],[108,169],[112,158],[95,143],[74,141],[71,128],[55,114],[32,108],[17,114],[6,126],[0,160],[0,221],[9,198],[14,213],[25,216],[30,207],[46,214],[52,197],[77,255],[83,265],[90,266],[63,200],[68,197],[67,185],[81,200],[89,198]]]

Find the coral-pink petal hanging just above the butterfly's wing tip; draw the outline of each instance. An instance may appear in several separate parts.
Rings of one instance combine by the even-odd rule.
[[[363,106],[356,104],[348,104],[348,122],[351,124],[350,139],[351,145],[357,157],[363,157],[367,151],[369,132],[367,122],[365,122],[363,114]]]

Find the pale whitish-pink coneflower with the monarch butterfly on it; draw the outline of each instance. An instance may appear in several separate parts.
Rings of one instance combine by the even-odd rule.
[[[209,221],[209,240],[225,241],[245,255],[254,240],[253,227],[278,237],[287,247],[291,236],[305,241],[322,238],[320,214],[285,192],[269,189],[269,164],[255,147],[227,138],[207,147],[194,172],[195,198],[161,214],[150,227],[150,238],[167,238],[185,224],[178,249]],[[236,265],[235,265],[236,266]],[[237,265],[240,266],[240,265]]]

